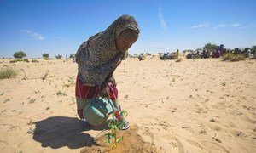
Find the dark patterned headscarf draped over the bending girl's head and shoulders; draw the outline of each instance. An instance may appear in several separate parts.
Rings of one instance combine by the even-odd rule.
[[[79,64],[79,79],[86,85],[100,85],[114,70],[125,52],[116,48],[119,34],[131,29],[139,32],[136,20],[130,15],[122,15],[105,31],[97,33],[84,42],[76,54]]]

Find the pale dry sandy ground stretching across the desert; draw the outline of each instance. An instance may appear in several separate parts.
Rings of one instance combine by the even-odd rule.
[[[80,129],[77,65],[38,60],[0,59],[19,72],[0,80],[0,152],[79,152],[102,129]],[[256,60],[126,59],[114,77],[128,121],[158,152],[256,152]]]

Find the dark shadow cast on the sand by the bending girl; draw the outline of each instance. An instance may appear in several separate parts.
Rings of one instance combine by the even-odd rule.
[[[93,137],[83,133],[81,122],[78,118],[67,116],[52,116],[35,123],[33,139],[43,147],[58,149],[67,146],[70,149],[79,149],[95,144]],[[106,129],[106,125],[93,130]]]

